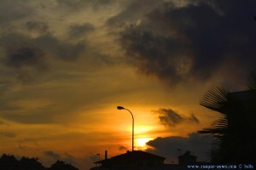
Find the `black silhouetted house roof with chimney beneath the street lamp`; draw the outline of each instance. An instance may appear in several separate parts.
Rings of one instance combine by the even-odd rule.
[[[125,154],[109,159],[105,156],[105,160],[94,162],[96,167],[90,170],[184,170],[189,164],[205,163],[197,162],[196,156],[191,155],[190,151],[178,156],[178,164],[165,164],[165,159],[142,150],[126,151]]]

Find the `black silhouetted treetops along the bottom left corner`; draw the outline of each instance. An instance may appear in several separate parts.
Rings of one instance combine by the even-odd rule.
[[[57,160],[50,167],[44,167],[39,161],[38,157],[28,158],[23,156],[18,161],[15,156],[9,156],[3,154],[0,158],[0,169],[4,170],[79,170],[77,167],[73,167],[71,164],[65,163],[65,161]]]

